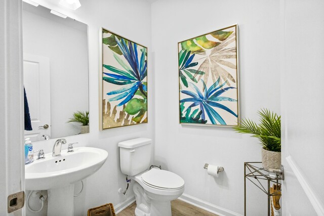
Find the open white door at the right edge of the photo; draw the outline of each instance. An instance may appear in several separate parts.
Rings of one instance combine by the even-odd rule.
[[[324,215],[324,1],[280,9],[282,215]]]

